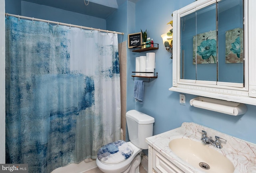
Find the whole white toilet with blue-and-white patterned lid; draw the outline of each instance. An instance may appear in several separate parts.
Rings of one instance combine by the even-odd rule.
[[[153,135],[155,119],[137,110],[126,112],[130,142],[118,140],[101,147],[96,164],[104,173],[139,173],[140,153],[148,149],[146,138]]]

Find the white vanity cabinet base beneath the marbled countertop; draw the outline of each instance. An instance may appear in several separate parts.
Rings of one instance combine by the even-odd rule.
[[[185,173],[148,145],[148,173]]]

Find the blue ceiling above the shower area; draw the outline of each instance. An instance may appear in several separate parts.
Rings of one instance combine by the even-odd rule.
[[[127,0],[24,0],[36,4],[45,6],[51,6],[54,8],[60,8],[62,10],[68,10],[80,14],[86,14],[88,16],[94,16],[97,18],[106,19],[110,14],[118,9],[118,6],[122,5]],[[129,0],[136,3],[138,0]]]

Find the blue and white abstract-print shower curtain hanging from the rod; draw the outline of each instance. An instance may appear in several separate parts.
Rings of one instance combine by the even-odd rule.
[[[6,18],[6,163],[30,173],[120,139],[117,34]]]

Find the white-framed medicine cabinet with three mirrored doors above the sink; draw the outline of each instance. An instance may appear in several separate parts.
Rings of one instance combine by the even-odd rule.
[[[256,1],[197,0],[173,12],[169,90],[256,105]]]

